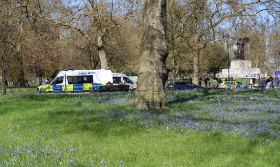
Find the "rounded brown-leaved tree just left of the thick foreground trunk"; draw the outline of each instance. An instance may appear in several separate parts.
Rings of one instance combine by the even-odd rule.
[[[137,75],[140,66],[142,29],[128,22],[108,35],[106,50],[114,72]]]

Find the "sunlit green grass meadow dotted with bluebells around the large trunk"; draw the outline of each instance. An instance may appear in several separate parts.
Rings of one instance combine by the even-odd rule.
[[[0,166],[280,166],[280,90],[133,93],[0,95]]]

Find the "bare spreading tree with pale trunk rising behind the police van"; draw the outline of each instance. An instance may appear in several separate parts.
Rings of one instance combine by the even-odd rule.
[[[137,5],[134,0],[74,0],[68,3],[58,0],[51,4],[43,0],[37,2],[37,8],[31,7],[33,13],[63,28],[80,32],[97,48],[103,69],[109,68],[104,38],[110,31],[120,28],[124,21],[132,16]],[[29,1],[23,4],[22,6],[29,7]],[[117,7],[114,8],[115,6]]]

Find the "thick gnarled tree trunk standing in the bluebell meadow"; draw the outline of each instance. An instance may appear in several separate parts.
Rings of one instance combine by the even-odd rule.
[[[166,5],[166,0],[145,0],[139,84],[130,101],[132,107],[168,107],[165,92],[165,61],[168,56]]]

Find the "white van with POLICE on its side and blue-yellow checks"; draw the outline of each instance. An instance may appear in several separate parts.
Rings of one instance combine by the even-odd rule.
[[[40,85],[38,92],[84,92],[112,82],[111,70],[63,70],[56,71],[49,82]]]

